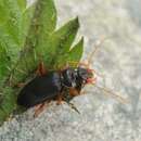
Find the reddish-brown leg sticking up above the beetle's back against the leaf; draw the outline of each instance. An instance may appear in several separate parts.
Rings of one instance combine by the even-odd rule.
[[[43,62],[39,63],[36,74],[39,75],[39,76],[47,74],[47,69],[44,67]]]

